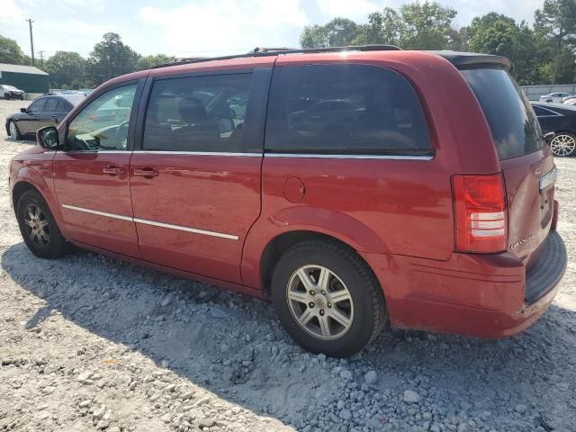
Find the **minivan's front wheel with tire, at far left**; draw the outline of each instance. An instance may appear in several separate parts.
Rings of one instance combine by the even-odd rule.
[[[16,216],[24,243],[36,257],[52,259],[67,253],[66,238],[40,193],[24,192],[18,200]]]

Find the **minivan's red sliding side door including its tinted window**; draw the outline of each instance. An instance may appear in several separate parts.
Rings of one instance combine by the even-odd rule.
[[[260,214],[270,74],[261,68],[154,81],[142,149],[130,162],[144,259],[240,282],[244,238]],[[230,109],[238,99],[247,99],[243,118]]]

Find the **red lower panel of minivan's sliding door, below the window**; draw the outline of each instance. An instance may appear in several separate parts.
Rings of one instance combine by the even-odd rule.
[[[130,189],[142,257],[239,283],[244,238],[260,213],[261,160],[135,152]],[[135,175],[143,168],[157,176]]]

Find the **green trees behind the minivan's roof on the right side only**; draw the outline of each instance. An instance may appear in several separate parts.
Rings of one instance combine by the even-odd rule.
[[[436,2],[415,2],[369,14],[365,24],[335,18],[307,26],[300,40],[302,48],[392,44],[495,54],[511,60],[521,85],[576,82],[576,0],[545,0],[533,25],[492,12],[456,28],[457,14]]]

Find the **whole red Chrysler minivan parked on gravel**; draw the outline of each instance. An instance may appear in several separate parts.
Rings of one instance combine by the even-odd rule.
[[[270,298],[315,353],[388,325],[513,335],[567,257],[554,158],[508,69],[367,46],[120,76],[14,157],[16,218],[38,257],[73,244]]]

